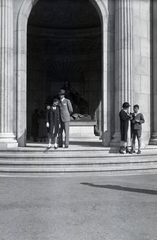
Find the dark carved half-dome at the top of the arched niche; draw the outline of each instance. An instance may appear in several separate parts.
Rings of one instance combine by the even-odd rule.
[[[28,26],[49,29],[100,27],[95,7],[85,0],[40,0],[33,7]]]

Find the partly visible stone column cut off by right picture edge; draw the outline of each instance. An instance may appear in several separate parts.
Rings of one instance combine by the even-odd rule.
[[[157,145],[157,1],[153,1],[153,110],[150,144]]]

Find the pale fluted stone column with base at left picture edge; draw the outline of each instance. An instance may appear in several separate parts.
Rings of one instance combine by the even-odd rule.
[[[13,5],[0,0],[0,148],[15,147],[13,134]]]

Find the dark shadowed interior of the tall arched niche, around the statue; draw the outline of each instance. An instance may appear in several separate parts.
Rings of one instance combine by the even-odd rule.
[[[101,131],[101,22],[88,0],[39,0],[28,20],[27,138],[34,109],[70,85]],[[75,110],[77,111],[77,110]]]

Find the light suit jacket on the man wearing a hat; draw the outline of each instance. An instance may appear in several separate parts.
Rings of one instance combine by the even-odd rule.
[[[62,122],[70,122],[70,114],[73,112],[73,107],[69,99],[64,98],[60,101],[60,115]]]

